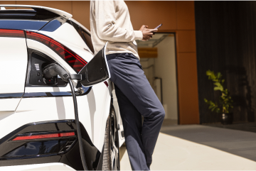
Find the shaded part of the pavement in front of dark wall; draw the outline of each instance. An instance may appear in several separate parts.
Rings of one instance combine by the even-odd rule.
[[[256,133],[212,126],[164,126],[162,133],[256,161]]]

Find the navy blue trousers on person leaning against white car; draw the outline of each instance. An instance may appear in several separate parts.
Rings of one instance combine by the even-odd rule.
[[[132,170],[149,171],[164,121],[164,108],[137,57],[129,53],[115,53],[107,55],[107,63],[110,80],[114,82]]]

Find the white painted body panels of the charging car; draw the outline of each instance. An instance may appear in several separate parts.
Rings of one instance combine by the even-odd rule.
[[[43,8],[45,9],[45,7]],[[77,21],[73,20],[73,18],[70,18],[70,20],[78,23]],[[80,25],[80,23],[78,23],[78,25]],[[88,31],[84,26],[80,26]],[[70,26],[69,23],[64,23],[63,26],[60,26],[60,28],[53,32],[38,31],[38,33],[48,35],[50,38],[53,38],[63,45],[66,45],[68,48],[70,48],[70,50],[73,50],[87,62],[89,62],[93,57],[85,42],[82,40],[77,31],[75,31],[75,28]],[[88,33],[90,33],[90,31],[88,31]],[[51,57],[53,60],[58,62],[70,74],[76,73],[73,68],[71,68],[70,65],[68,65],[53,50],[42,43],[30,39],[0,38],[0,40],[0,47],[4,47],[4,45],[9,47],[6,48],[5,51],[0,52],[0,72],[6,73],[6,71],[8,71],[8,75],[0,75],[0,79],[3,80],[2,78],[4,78],[9,84],[5,85],[4,82],[0,82],[1,93],[70,92],[69,85],[66,87],[25,87],[28,62],[26,46],[48,55],[48,57]],[[18,48],[13,50],[11,49],[11,45]],[[17,73],[10,70],[10,65],[4,65],[2,58],[4,58],[5,55],[3,54],[8,55],[9,63],[12,63],[12,66],[21,67],[21,70],[19,70],[20,72]],[[13,79],[13,77],[11,77],[14,75],[16,76],[15,78],[17,78],[18,75],[18,79]],[[122,120],[119,115],[119,107],[114,93],[114,87],[110,80],[107,82],[109,87],[101,82],[93,85],[89,94],[77,96],[80,122],[83,126],[85,126],[92,143],[100,152],[102,152],[102,147],[104,144],[105,126],[107,117],[110,113],[110,101],[112,95],[114,109],[117,114],[117,123],[119,125],[119,145],[121,146],[122,143],[124,143],[124,138],[121,135],[121,132],[123,131]],[[77,81],[73,81],[74,86],[76,83]],[[19,128],[27,123],[60,119],[75,119],[72,96],[0,99],[0,138],[3,138],[7,134],[11,133],[11,131],[14,131],[16,128]],[[35,165],[23,165],[22,169],[35,171],[44,170],[46,168],[47,170],[73,170],[71,167],[69,168],[67,165],[63,165],[61,163],[56,163],[56,165],[54,163],[46,163],[40,164],[38,167],[33,166]],[[21,167],[0,167],[0,170],[2,170],[2,168],[6,170],[18,170],[18,168]]]

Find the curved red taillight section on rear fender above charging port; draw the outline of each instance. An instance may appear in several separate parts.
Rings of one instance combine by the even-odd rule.
[[[65,62],[72,67],[75,72],[80,72],[82,67],[84,67],[87,62],[82,59],[79,55],[75,54],[72,50],[67,48],[65,45],[58,43],[56,40],[49,38],[46,35],[41,33],[35,33],[32,31],[26,31],[26,37],[32,40],[36,40],[44,45],[47,45],[48,48],[57,53]]]

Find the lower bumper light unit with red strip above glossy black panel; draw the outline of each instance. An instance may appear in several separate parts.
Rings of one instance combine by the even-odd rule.
[[[18,147],[2,155],[0,160],[29,158],[29,156],[60,155],[72,148],[76,141],[75,131],[19,134],[9,140],[9,142],[18,143]]]

